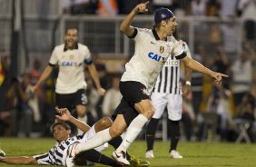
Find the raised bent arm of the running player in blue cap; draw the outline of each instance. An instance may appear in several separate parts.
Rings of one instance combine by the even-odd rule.
[[[149,2],[146,2],[146,3],[143,3],[143,4],[139,4],[139,5],[136,5],[132,12],[127,15],[123,22],[121,23],[120,25],[120,31],[125,34],[126,36],[131,36],[133,35],[133,32],[134,32],[134,28],[133,26],[131,25],[131,22],[133,20],[133,17],[135,15],[137,15],[138,13],[145,13],[148,11],[148,8],[147,8],[147,5],[149,4]]]

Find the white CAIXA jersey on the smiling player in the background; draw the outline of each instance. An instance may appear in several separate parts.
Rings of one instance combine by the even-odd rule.
[[[77,44],[74,50],[65,50],[64,44],[54,48],[49,64],[58,64],[59,74],[56,81],[56,93],[75,93],[86,88],[84,81],[84,62],[91,61],[87,46]]]

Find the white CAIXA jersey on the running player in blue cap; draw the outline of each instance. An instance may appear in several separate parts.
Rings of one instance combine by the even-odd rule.
[[[147,91],[151,93],[167,58],[171,54],[177,56],[177,59],[183,57],[182,45],[173,37],[168,38],[167,41],[159,40],[155,30],[144,28],[134,30],[135,53],[132,59],[125,64],[125,72],[121,81],[143,83]]]

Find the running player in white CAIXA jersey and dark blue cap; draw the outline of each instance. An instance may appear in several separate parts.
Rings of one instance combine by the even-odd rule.
[[[72,156],[75,153],[92,149],[121,135],[128,126],[122,144],[113,152],[112,156],[118,162],[129,164],[126,160],[126,151],[141,132],[143,125],[153,116],[154,108],[150,93],[163,64],[171,54],[176,59],[181,59],[192,70],[209,74],[215,79],[215,82],[221,82],[222,76],[227,76],[215,73],[188,57],[184,53],[182,45],[174,38],[167,39],[177,25],[176,18],[169,9],[161,8],[156,11],[153,29],[133,27],[131,25],[133,17],[138,13],[147,12],[147,4],[148,2],[136,5],[120,25],[123,34],[135,41],[135,53],[132,59],[125,64],[125,72],[120,82],[123,99],[116,108],[116,118],[110,128],[96,133],[91,140],[85,143],[75,144],[73,152],[70,152],[70,157],[66,159],[68,167],[74,166]]]

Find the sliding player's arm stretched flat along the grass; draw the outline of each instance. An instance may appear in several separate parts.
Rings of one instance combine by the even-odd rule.
[[[37,164],[36,160],[32,156],[20,156],[20,157],[0,157],[0,162],[6,164]]]

